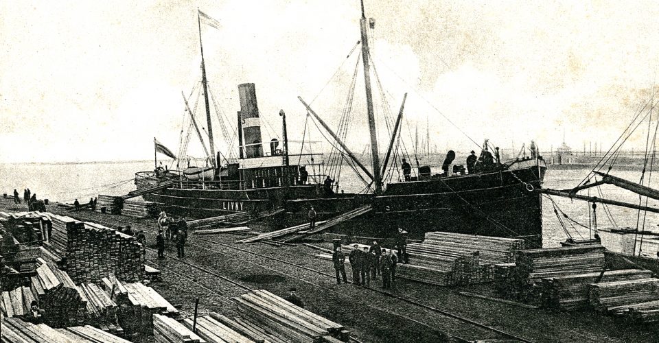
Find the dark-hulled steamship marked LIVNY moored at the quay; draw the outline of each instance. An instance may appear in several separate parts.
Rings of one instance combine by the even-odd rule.
[[[364,180],[369,193],[336,193],[334,181],[327,172],[325,183],[308,185],[301,178],[301,167],[319,169],[323,166],[322,154],[294,156],[287,147],[286,117],[283,119],[284,148],[270,149],[264,154],[259,128],[255,87],[253,84],[238,86],[241,110],[238,114],[238,148],[240,157],[236,163],[218,167],[219,156],[213,151],[213,137],[209,114],[209,100],[202,48],[202,83],[204,86],[207,125],[211,147],[211,166],[216,180],[167,179],[159,185],[146,182],[149,172],[136,174],[135,183],[145,189],[145,198],[160,202],[168,209],[187,211],[194,215],[219,215],[232,211],[266,211],[281,208],[281,224],[292,225],[308,221],[310,206],[314,206],[319,220],[336,217],[340,230],[354,235],[386,237],[405,228],[411,237],[422,237],[428,230],[444,230],[456,233],[473,233],[499,237],[520,237],[527,246],[542,244],[542,201],[539,193],[546,165],[542,156],[533,150],[528,158],[501,161],[498,148],[483,145],[481,161],[470,173],[464,168],[454,168],[452,161],[442,174],[432,174],[430,167],[419,165],[415,175],[403,180],[393,180],[393,170],[400,171],[397,158],[400,151],[401,119],[406,96],[393,126],[388,149],[384,156],[378,151],[378,135],[375,130],[373,94],[371,90],[371,51],[369,50],[369,23],[362,2],[360,18],[360,44],[362,69],[365,78],[366,114],[370,134],[371,163],[362,163],[344,143],[343,134],[336,134],[314,109],[301,97],[301,104],[308,111],[308,118],[319,124],[334,139],[339,165],[350,165]],[[201,38],[200,38],[201,39]],[[353,49],[354,50],[354,49]],[[359,64],[359,60],[358,60]],[[356,69],[355,69],[356,70]],[[355,71],[355,76],[356,76]],[[354,83],[353,83],[354,86]],[[201,138],[201,134],[199,134]],[[429,141],[429,139],[428,139]],[[426,142],[429,145],[429,142]],[[493,154],[494,153],[494,154]],[[454,155],[454,154],[453,154]],[[311,161],[294,163],[294,161]],[[382,163],[380,162],[382,158]],[[410,160],[412,161],[412,160]],[[334,164],[336,164],[334,163]],[[303,165],[304,164],[304,165]],[[366,165],[370,164],[370,167]],[[325,169],[327,170],[327,169]],[[456,171],[453,173],[453,171]],[[323,174],[317,179],[322,180]],[[185,175],[179,174],[179,175]],[[349,214],[349,215],[346,215]],[[349,222],[346,222],[350,220]]]

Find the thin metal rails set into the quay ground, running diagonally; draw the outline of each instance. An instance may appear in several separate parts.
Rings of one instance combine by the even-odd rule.
[[[75,214],[80,214],[80,213],[75,213]],[[70,213],[69,215],[74,215],[74,213]],[[109,219],[109,218],[108,218],[108,219]],[[92,220],[92,219],[87,219],[87,220]],[[103,219],[100,219],[100,218],[93,218],[93,220],[104,220],[104,218],[103,218]],[[156,226],[150,226],[150,225],[141,224],[141,223],[138,223],[138,222],[127,221],[127,220],[124,220],[123,218],[122,218],[122,219],[116,218],[116,216],[113,216],[112,220],[115,221],[115,222],[123,222],[123,223],[126,223],[126,224],[130,224],[131,226],[139,226],[139,227],[143,227],[143,228],[148,228],[148,229],[149,229],[148,232],[149,232],[151,235],[154,235],[155,233],[153,232],[153,230],[156,230],[156,229],[157,229]],[[223,246],[223,247],[225,247],[225,248],[230,248],[230,249],[233,249],[233,250],[238,250],[238,251],[241,251],[241,252],[246,252],[246,253],[248,253],[248,254],[250,254],[250,255],[255,255],[255,256],[257,256],[257,257],[262,257],[262,258],[264,258],[264,259],[270,259],[270,260],[273,260],[273,261],[277,261],[277,262],[279,262],[279,263],[283,263],[283,264],[286,264],[286,265],[290,265],[290,266],[292,266],[292,267],[294,267],[294,268],[299,268],[299,269],[302,269],[302,270],[306,270],[306,271],[308,271],[308,272],[314,272],[314,273],[316,273],[316,274],[320,274],[320,275],[323,275],[323,276],[327,276],[327,277],[332,278],[332,279],[334,279],[334,277],[335,277],[334,275],[332,275],[332,274],[328,274],[328,273],[323,272],[323,271],[321,271],[321,270],[316,270],[316,269],[314,269],[314,268],[308,268],[308,267],[305,267],[304,265],[299,265],[299,264],[296,264],[296,263],[292,263],[292,262],[284,261],[284,260],[282,260],[282,259],[277,259],[277,257],[271,257],[271,256],[268,256],[268,255],[259,254],[258,252],[253,252],[253,251],[250,251],[250,250],[246,250],[246,249],[244,249],[244,248],[238,248],[238,247],[236,247],[236,246],[231,246],[231,245],[229,245],[229,244],[224,244],[224,243],[221,243],[221,242],[219,242],[219,241],[213,241],[212,239],[205,239],[205,238],[201,238],[201,237],[194,237],[194,239],[195,239],[195,240],[199,240],[199,241],[206,241],[206,242],[208,242],[208,243],[216,244],[216,245],[218,245],[218,246]],[[221,254],[221,255],[227,255],[227,252],[221,252],[221,251],[218,251],[218,250],[213,250],[213,249],[211,249],[211,248],[208,248],[208,247],[205,247],[205,246],[200,246],[200,245],[198,245],[198,244],[192,244],[192,243],[190,243],[189,245],[190,245],[190,246],[197,246],[197,247],[199,247],[199,248],[203,248],[203,249],[205,249],[205,250],[209,250],[209,251],[212,251],[212,252],[216,252],[216,253]],[[151,251],[155,251],[155,250],[153,250],[152,248],[147,248],[147,249],[149,249],[149,250],[151,250]],[[189,265],[190,267],[195,268],[196,270],[200,270],[200,271],[205,272],[205,273],[207,273],[207,274],[210,274],[210,275],[216,276],[216,277],[218,277],[218,278],[220,278],[220,279],[223,279],[223,280],[225,280],[225,281],[228,281],[228,282],[230,282],[230,283],[234,283],[234,284],[236,284],[236,285],[239,285],[239,283],[237,283],[236,281],[230,280],[230,279],[228,279],[228,278],[226,278],[226,277],[224,277],[224,276],[221,276],[220,274],[217,274],[217,273],[215,273],[215,272],[212,272],[212,271],[210,271],[210,270],[207,270],[207,269],[205,269],[205,268],[203,268],[203,267],[200,267],[200,266],[198,266],[198,265],[194,265],[194,263],[189,263],[189,262],[183,261],[183,260],[181,260],[181,259],[175,259],[174,257],[168,257],[168,258],[170,258],[170,259],[174,259],[174,261],[181,262],[181,263],[183,263],[183,264],[185,264],[185,265]],[[241,259],[241,260],[243,260],[243,261],[247,261],[248,263],[253,263],[253,262],[248,261],[248,260],[245,260],[245,259]],[[264,267],[263,265],[259,265],[259,266],[262,267],[262,268],[266,268],[266,267]],[[266,268],[266,269],[270,269],[270,268]],[[270,269],[270,270],[272,270],[272,269]],[[287,275],[286,273],[281,272],[281,271],[279,271],[279,270],[273,270],[273,271],[274,271],[274,272],[277,272],[278,274],[285,274],[285,275]],[[290,275],[287,275],[287,276],[290,276]],[[292,277],[294,277],[294,276],[292,276]],[[297,278],[297,277],[294,277],[294,278],[295,278],[295,279],[299,279],[299,278]],[[303,280],[303,279],[299,279],[299,280],[300,280],[300,281],[303,281],[303,282],[310,283],[310,281],[305,281],[305,280]],[[351,281],[349,281],[349,282],[352,283]],[[316,284],[314,284],[314,283],[311,283],[311,284],[312,284],[312,285],[315,285],[316,287],[322,287],[322,288],[324,288],[324,289],[327,289],[326,287],[323,287],[323,286],[321,286],[321,285],[316,285]],[[249,287],[246,287],[246,286],[244,286],[244,285],[240,285],[240,287],[244,287],[244,289],[251,290]],[[533,341],[531,341],[531,340],[527,340],[527,339],[525,339],[525,338],[520,338],[520,337],[518,337],[518,336],[516,336],[516,335],[513,335],[512,333],[507,333],[506,331],[502,331],[502,330],[500,330],[500,329],[496,329],[495,327],[489,326],[489,325],[487,325],[487,324],[483,324],[483,323],[481,323],[481,322],[477,322],[476,320],[471,320],[471,319],[469,319],[469,318],[465,318],[465,317],[463,317],[463,316],[459,316],[459,315],[456,315],[456,314],[452,314],[452,313],[450,313],[449,311],[446,311],[446,310],[443,310],[443,309],[438,309],[437,307],[432,307],[432,306],[430,306],[430,305],[426,305],[426,304],[424,304],[424,303],[420,303],[420,302],[418,302],[417,300],[413,300],[413,299],[410,299],[410,298],[406,298],[406,297],[404,297],[404,296],[399,296],[399,295],[396,295],[396,294],[392,294],[392,293],[390,293],[390,292],[385,292],[385,291],[383,291],[383,290],[376,289],[376,288],[368,287],[368,289],[370,289],[370,290],[373,291],[373,292],[376,292],[376,293],[382,294],[382,295],[384,295],[384,296],[388,296],[388,297],[390,297],[390,298],[394,298],[395,300],[399,300],[399,301],[401,301],[401,302],[403,302],[403,303],[407,303],[407,304],[409,304],[409,305],[413,305],[413,306],[416,306],[416,307],[421,307],[421,308],[426,309],[426,310],[428,310],[428,311],[432,311],[432,312],[435,312],[435,313],[437,313],[437,314],[441,314],[442,316],[446,316],[446,317],[448,317],[448,318],[452,318],[452,319],[454,319],[454,320],[459,320],[459,321],[461,321],[461,322],[465,322],[465,323],[467,323],[467,324],[474,325],[475,327],[479,327],[479,328],[481,328],[481,329],[485,329],[485,330],[487,330],[487,331],[492,331],[492,332],[494,332],[494,333],[498,333],[499,335],[505,336],[506,338],[509,338],[509,339],[518,340],[518,341],[520,341],[520,342],[533,343]],[[334,292],[334,291],[332,291],[332,292]],[[372,307],[371,305],[368,305],[368,304],[365,304],[365,305],[367,305],[367,306],[369,306],[369,307]],[[380,308],[378,308],[378,307],[373,307],[373,309],[378,309],[379,311],[387,311],[386,309],[380,309]],[[390,311],[387,311],[387,312],[390,312]],[[428,324],[424,324],[424,323],[418,322],[417,320],[415,320],[415,319],[413,319],[413,318],[406,318],[406,317],[404,317],[404,316],[402,316],[402,315],[400,315],[400,314],[395,314],[395,313],[393,313],[393,312],[390,312],[390,313],[393,314],[393,315],[396,315],[396,316],[401,316],[402,318],[404,318],[404,319],[406,319],[406,320],[411,320],[411,321],[413,321],[413,322],[416,322],[417,324],[424,325],[425,327],[428,327],[428,328],[431,328],[431,329],[434,329],[434,330],[437,330],[437,331],[443,332],[443,331],[441,331],[441,330],[439,330],[439,329],[437,329],[437,328],[430,327]],[[460,337],[457,337],[457,336],[455,336],[455,335],[452,335],[452,336],[458,338],[459,340],[464,340],[465,342],[470,342],[469,340],[465,340],[465,339],[460,338]]]

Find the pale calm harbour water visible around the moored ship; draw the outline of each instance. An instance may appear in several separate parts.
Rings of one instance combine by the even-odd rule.
[[[329,167],[328,167],[329,168]],[[0,164],[0,193],[11,195],[16,189],[23,196],[23,189],[29,188],[38,199],[51,202],[81,203],[89,198],[104,195],[120,196],[135,189],[135,173],[154,169],[153,161],[95,162],[95,163],[3,163]],[[433,171],[439,167],[433,167]],[[336,168],[334,168],[336,171]],[[551,189],[571,189],[588,176],[590,169],[551,169],[549,166],[543,187]],[[319,173],[321,174],[321,173]],[[612,170],[611,174],[626,180],[638,182],[640,171]],[[336,178],[336,177],[335,177]],[[648,174],[645,175],[647,185]],[[342,169],[336,180],[346,192],[362,191],[364,185],[349,168]],[[654,180],[651,180],[654,187]],[[657,180],[659,181],[659,177]],[[658,188],[658,187],[655,187]],[[583,195],[608,198],[621,202],[657,207],[657,201],[619,189],[612,185],[593,187],[581,191]],[[596,215],[592,204],[557,196],[542,197],[543,246],[560,246],[568,237],[586,239],[592,237],[595,223],[598,228],[631,227],[645,228],[659,232],[659,214],[627,209],[617,206],[597,204]],[[597,220],[595,220],[597,217]]]

